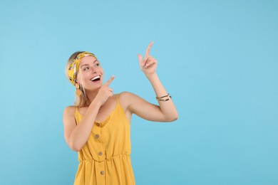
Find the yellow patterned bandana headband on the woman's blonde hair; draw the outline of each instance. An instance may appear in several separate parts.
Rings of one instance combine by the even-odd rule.
[[[71,63],[71,66],[68,68],[68,77],[69,80],[71,80],[71,83],[73,85],[76,85],[76,74],[78,73],[79,70],[80,61],[83,57],[86,56],[96,57],[93,53],[87,51],[83,53],[79,53],[78,56],[76,56],[76,58],[73,60],[73,63]]]

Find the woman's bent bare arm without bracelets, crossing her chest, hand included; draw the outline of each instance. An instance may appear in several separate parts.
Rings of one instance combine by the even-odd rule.
[[[98,110],[103,105],[108,97],[113,95],[113,90],[108,87],[114,77],[110,78],[105,85],[98,91],[98,95],[91,102],[88,107],[86,114],[83,116],[81,122],[76,125],[75,120],[75,107],[66,107],[63,112],[63,126],[64,126],[64,137],[68,147],[78,152],[84,144],[86,144],[88,137],[91,134],[93,123],[98,115]]]

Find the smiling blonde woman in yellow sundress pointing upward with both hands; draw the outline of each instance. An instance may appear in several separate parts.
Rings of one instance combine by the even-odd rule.
[[[76,86],[76,105],[63,113],[64,136],[78,152],[80,162],[74,184],[135,184],[130,162],[130,120],[133,114],[145,120],[172,122],[177,110],[155,73],[158,62],[138,55],[140,68],[150,80],[159,105],[133,93],[113,95],[112,76],[103,84],[103,68],[93,53],[76,52],[66,65],[68,80]]]

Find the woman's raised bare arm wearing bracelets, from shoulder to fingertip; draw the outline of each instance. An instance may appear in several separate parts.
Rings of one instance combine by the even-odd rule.
[[[157,122],[172,122],[177,120],[177,110],[171,100],[168,92],[163,87],[160,82],[156,71],[158,66],[158,61],[150,56],[150,48],[153,46],[153,42],[147,48],[144,58],[139,54],[139,65],[143,73],[145,73],[148,80],[150,80],[153,89],[155,90],[155,95],[158,97],[158,105],[153,105],[150,102],[143,100],[137,95],[131,93],[125,93],[130,100],[130,105],[128,106],[130,112],[142,117],[145,120],[157,121]],[[161,97],[161,98],[159,98]],[[155,97],[154,97],[155,98]]]

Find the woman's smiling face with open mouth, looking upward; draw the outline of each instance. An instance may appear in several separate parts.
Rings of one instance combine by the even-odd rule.
[[[87,91],[98,90],[103,84],[103,68],[98,59],[86,56],[81,59],[77,74],[77,83]]]

